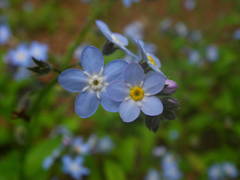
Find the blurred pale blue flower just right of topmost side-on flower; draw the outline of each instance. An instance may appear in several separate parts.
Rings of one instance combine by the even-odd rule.
[[[124,29],[124,34],[131,39],[143,39],[143,23],[135,21]]]

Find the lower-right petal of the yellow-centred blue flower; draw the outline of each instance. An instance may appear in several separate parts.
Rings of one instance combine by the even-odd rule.
[[[142,101],[141,110],[149,116],[157,116],[163,112],[161,100],[155,96],[145,97]]]

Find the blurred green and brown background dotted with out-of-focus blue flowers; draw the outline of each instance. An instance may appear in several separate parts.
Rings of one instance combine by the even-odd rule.
[[[71,66],[77,47],[103,47],[96,19],[150,43],[162,71],[177,82],[176,119],[160,122],[156,133],[102,108],[81,119],[56,72],[19,78],[19,67],[7,61],[10,50],[37,41],[48,46],[54,67]],[[126,7],[120,0],[0,0],[1,25],[10,31],[0,44],[1,180],[73,179],[61,161],[70,150],[46,167],[70,137],[105,142],[86,156],[90,173],[83,179],[238,179],[240,1],[140,0]],[[123,57],[117,51],[105,59]]]

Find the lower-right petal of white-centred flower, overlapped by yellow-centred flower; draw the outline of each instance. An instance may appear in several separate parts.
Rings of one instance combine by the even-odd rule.
[[[101,94],[101,104],[108,112],[118,112],[120,102],[113,101],[108,94],[104,92]]]

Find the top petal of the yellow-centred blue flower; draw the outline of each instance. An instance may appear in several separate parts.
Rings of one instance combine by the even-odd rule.
[[[124,80],[131,85],[139,85],[144,80],[144,71],[137,63],[127,66],[124,73]]]

